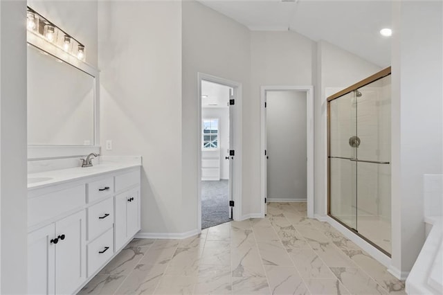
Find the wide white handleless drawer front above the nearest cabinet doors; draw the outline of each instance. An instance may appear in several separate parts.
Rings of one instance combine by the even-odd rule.
[[[86,203],[85,188],[74,186],[28,199],[28,226],[51,219]]]

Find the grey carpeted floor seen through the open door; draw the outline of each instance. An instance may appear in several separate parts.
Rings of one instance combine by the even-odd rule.
[[[201,229],[230,221],[228,180],[201,181]]]

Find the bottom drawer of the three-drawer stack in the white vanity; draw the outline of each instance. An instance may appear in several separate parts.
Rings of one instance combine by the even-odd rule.
[[[88,277],[95,273],[114,253],[112,247],[113,229],[109,229],[103,235],[88,245]]]

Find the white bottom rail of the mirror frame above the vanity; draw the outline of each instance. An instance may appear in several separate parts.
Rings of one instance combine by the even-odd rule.
[[[28,161],[84,157],[100,154],[100,146],[91,145],[28,145]]]

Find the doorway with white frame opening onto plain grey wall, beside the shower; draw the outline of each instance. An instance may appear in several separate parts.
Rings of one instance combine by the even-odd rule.
[[[314,217],[312,87],[262,87],[262,213],[268,202],[306,202]]]

